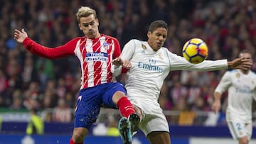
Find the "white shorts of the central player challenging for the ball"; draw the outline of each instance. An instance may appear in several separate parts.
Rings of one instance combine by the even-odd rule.
[[[154,101],[130,100],[132,104],[142,110],[144,119],[139,128],[147,136],[153,131],[166,131],[169,133],[169,125],[159,104]]]

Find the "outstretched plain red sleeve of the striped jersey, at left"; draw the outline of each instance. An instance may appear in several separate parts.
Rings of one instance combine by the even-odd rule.
[[[78,38],[70,40],[65,45],[61,45],[55,48],[48,48],[46,46],[36,43],[34,40],[31,40],[31,38],[26,38],[25,40],[23,40],[23,45],[28,51],[32,52],[34,55],[38,55],[39,57],[45,57],[48,59],[55,59],[59,57],[66,57],[68,55],[74,55],[77,41]]]

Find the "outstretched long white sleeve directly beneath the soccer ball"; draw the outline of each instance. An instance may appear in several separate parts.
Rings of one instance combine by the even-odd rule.
[[[228,68],[228,60],[204,60],[201,63],[193,64],[184,57],[168,52],[171,71],[173,70],[194,70],[194,71],[213,71],[225,70]]]

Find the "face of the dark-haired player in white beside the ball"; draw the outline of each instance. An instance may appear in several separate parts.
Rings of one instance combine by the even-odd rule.
[[[154,51],[159,50],[166,41],[167,30],[166,28],[156,28],[153,32],[148,32],[148,43]]]

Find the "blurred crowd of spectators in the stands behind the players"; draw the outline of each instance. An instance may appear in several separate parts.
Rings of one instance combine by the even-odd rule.
[[[169,24],[165,46],[177,55],[187,40],[201,38],[208,45],[208,60],[233,60],[246,48],[256,64],[255,0],[1,0],[0,108],[50,108],[54,111],[49,121],[72,121],[70,108],[75,107],[81,77],[76,57],[37,57],[18,45],[13,33],[24,28],[42,45],[63,45],[83,36],[75,18],[80,6],[95,9],[100,33],[116,37],[121,46],[132,38],[146,40],[149,23],[161,19]],[[171,72],[161,90],[161,107],[210,111],[224,72]],[[226,96],[222,102],[225,111]]]

